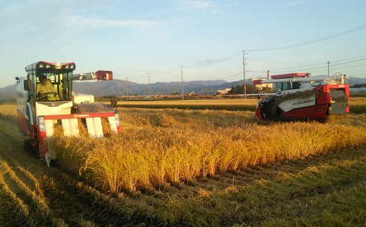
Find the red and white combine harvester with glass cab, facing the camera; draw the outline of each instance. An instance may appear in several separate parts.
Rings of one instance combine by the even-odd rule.
[[[110,129],[115,134],[120,132],[120,119],[114,108],[94,103],[94,96],[72,93],[73,80],[112,80],[113,72],[99,70],[73,74],[75,67],[75,63],[39,61],[25,67],[27,77],[15,78],[18,82],[18,128],[21,134],[30,138],[25,141],[25,149],[36,150],[48,166],[56,159],[56,153],[49,149],[47,137],[53,135],[57,125],[62,126],[65,136],[77,136],[80,133],[78,119],[81,119],[90,136],[102,138],[101,118],[106,118]],[[47,80],[43,88],[48,86],[47,93],[40,87],[42,78]]]

